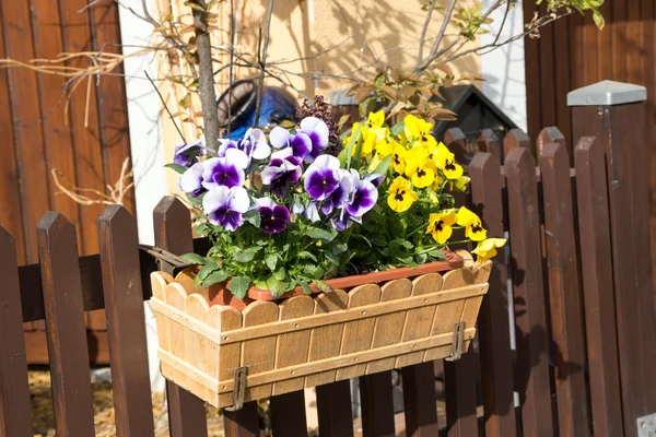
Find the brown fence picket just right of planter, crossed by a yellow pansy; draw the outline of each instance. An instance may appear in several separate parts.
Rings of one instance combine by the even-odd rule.
[[[499,161],[489,153],[477,154],[469,166],[469,177],[472,209],[480,214],[490,235],[503,236],[504,181]],[[516,420],[504,252],[500,250],[493,261],[490,288],[478,320],[485,434],[488,437],[512,437],[516,435]]]

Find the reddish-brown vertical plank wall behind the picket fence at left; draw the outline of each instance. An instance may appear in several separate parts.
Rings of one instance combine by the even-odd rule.
[[[113,0],[95,1],[93,8],[87,0],[0,0],[0,58],[28,62],[62,52],[120,54],[118,8]],[[85,62],[92,61],[67,64]],[[80,206],[57,196],[50,172],[58,169],[71,184],[104,192],[130,156],[124,78],[96,81],[90,75],[70,101],[66,83],[58,75],[0,68],[0,223],[15,237],[20,265],[37,262],[34,229],[49,210],[74,224],[81,253],[97,253],[94,222],[103,205]],[[131,192],[125,205],[134,211]],[[92,363],[108,363],[104,311],[87,315],[86,326]],[[43,321],[26,323],[25,342],[30,363],[48,363]]]

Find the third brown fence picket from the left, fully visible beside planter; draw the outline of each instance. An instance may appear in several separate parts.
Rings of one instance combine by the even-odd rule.
[[[153,436],[137,221],[120,205],[98,218],[116,435]]]

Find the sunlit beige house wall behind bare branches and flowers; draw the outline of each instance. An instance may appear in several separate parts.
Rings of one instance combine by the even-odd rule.
[[[173,12],[181,20],[188,15],[189,9],[184,0],[153,0],[160,14]],[[233,0],[237,8],[238,33],[237,49],[248,59],[256,59],[260,25],[265,26],[266,0]],[[385,66],[405,68],[417,66],[418,45],[425,19],[421,7],[425,0],[276,0],[271,21],[270,44],[267,60],[274,62],[276,72],[294,88],[293,94],[323,94],[330,99],[354,84],[354,80],[372,79],[376,70]],[[444,3],[446,0],[437,0]],[[467,5],[471,0],[461,0],[458,5]],[[424,54],[443,23],[445,8],[433,13],[429,27]],[[223,1],[213,8],[218,14],[218,25],[213,32],[213,44],[225,47],[230,39],[230,2]],[[455,35],[456,29],[449,26],[447,35]],[[190,36],[191,34],[189,34]],[[453,36],[447,36],[445,43]],[[477,45],[478,42],[470,43]],[[229,63],[226,52],[218,50],[215,56],[225,66]],[[179,74],[184,71],[184,62],[161,56],[159,58],[161,78]],[[456,78],[479,78],[480,58],[464,57],[449,64]],[[229,69],[218,78],[218,93],[229,83]],[[236,79],[257,75],[257,70],[236,68]],[[280,84],[269,79],[270,84]],[[185,95],[175,84],[162,82],[162,93],[169,102],[174,113],[180,113],[176,102]],[[195,99],[195,109],[186,110],[178,116],[178,125],[184,126],[187,138],[197,137],[200,132],[184,118],[200,120],[199,102]],[[200,122],[199,122],[200,125]],[[167,117],[164,117],[165,154],[171,156],[179,137]],[[175,191],[176,175],[168,172],[168,186]]]

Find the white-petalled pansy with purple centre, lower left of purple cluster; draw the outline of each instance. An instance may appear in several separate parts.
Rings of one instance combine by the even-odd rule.
[[[235,231],[244,223],[244,214],[250,206],[248,193],[244,187],[216,186],[202,199],[202,210],[213,225]]]

